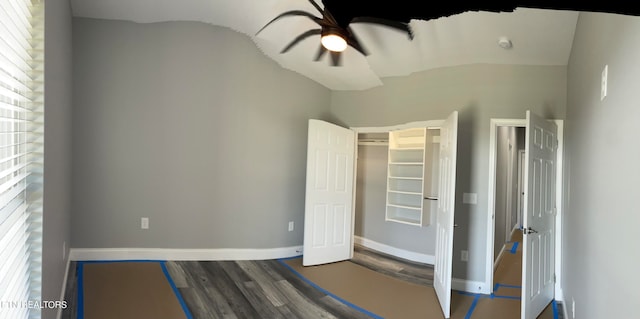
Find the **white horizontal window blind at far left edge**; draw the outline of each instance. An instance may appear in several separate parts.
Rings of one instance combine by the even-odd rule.
[[[0,0],[0,318],[39,318],[44,2]]]

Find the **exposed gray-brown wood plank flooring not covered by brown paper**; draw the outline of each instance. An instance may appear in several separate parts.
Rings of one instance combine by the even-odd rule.
[[[364,247],[356,247],[351,261],[401,280],[433,283],[432,266]],[[166,266],[194,319],[372,318],[317,289],[279,260],[168,261]],[[71,262],[65,291],[69,306],[62,319],[77,318],[76,270],[77,263]]]

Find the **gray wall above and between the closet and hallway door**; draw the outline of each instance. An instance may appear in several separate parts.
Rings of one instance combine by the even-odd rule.
[[[384,126],[444,119],[459,111],[458,171],[453,275],[485,280],[489,119],[525,117],[525,111],[564,118],[566,67],[466,65],[407,77],[386,78],[384,86],[332,92],[334,120],[347,126]],[[478,204],[462,204],[463,193]],[[416,239],[421,240],[421,239]],[[469,262],[460,250],[469,250]]]

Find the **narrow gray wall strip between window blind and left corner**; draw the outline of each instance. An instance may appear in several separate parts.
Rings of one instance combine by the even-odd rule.
[[[68,0],[45,5],[45,137],[42,299],[59,300],[71,215],[71,8]],[[65,245],[66,244],[66,245]],[[57,310],[43,310],[55,318]]]

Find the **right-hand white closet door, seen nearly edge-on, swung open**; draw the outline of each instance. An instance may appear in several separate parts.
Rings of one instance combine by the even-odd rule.
[[[436,264],[433,283],[445,318],[449,318],[451,312],[451,263],[453,260],[457,146],[458,112],[453,112],[440,127],[440,177],[436,217]]]

